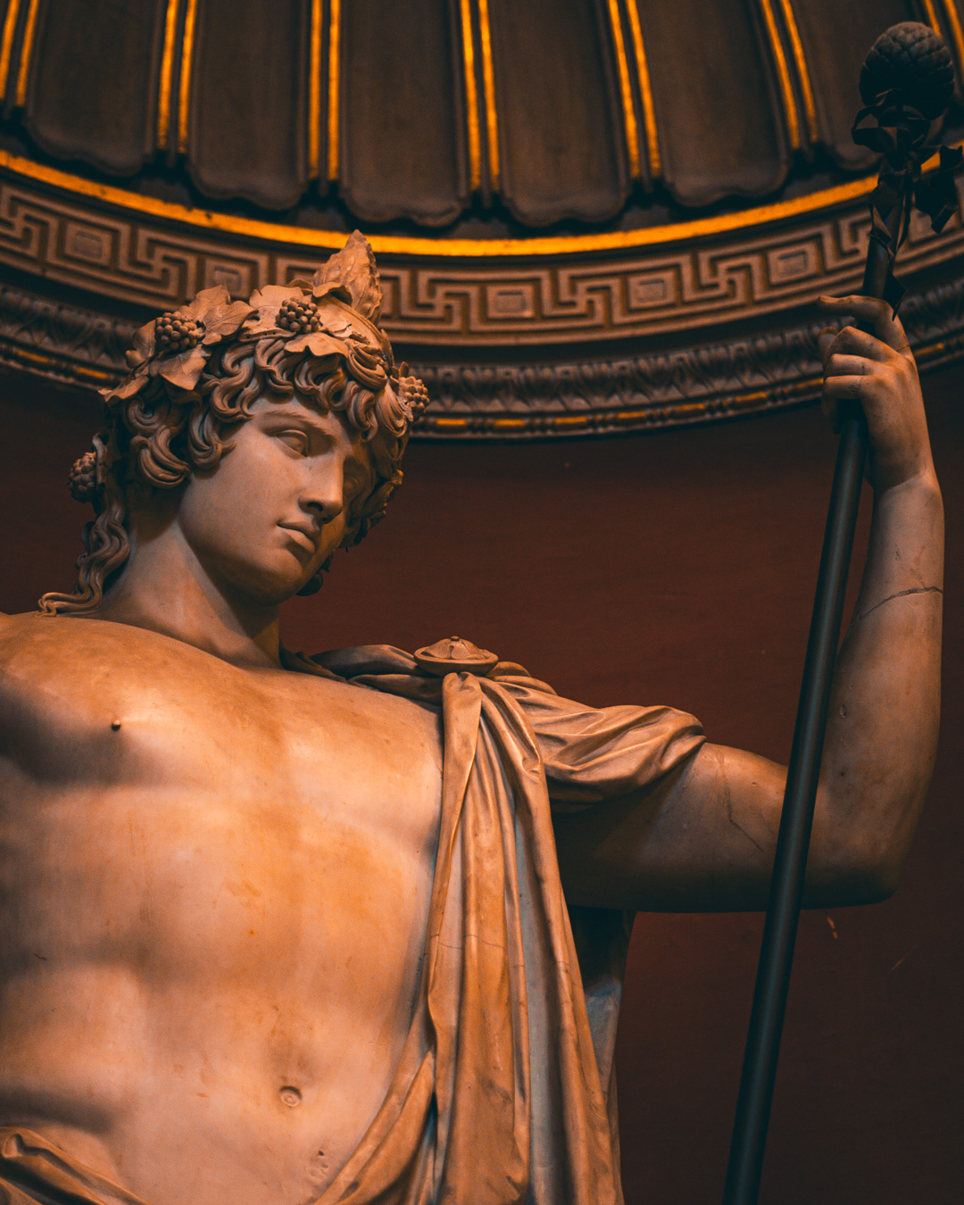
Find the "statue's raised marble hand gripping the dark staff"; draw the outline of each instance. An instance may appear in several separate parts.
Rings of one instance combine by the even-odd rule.
[[[823,411],[837,427],[841,401],[859,401],[870,433],[869,477],[876,490],[933,472],[930,441],[917,365],[890,306],[877,298],[821,298],[830,313],[853,315],[875,335],[856,327],[822,330]]]

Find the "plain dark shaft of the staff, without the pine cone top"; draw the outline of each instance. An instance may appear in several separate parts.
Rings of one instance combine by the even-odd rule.
[[[892,247],[900,216],[901,207],[894,206],[888,222]],[[887,247],[871,240],[864,296],[883,295],[888,263]],[[866,447],[866,423],[859,406],[852,404],[837,445],[723,1205],[756,1205],[759,1194]]]

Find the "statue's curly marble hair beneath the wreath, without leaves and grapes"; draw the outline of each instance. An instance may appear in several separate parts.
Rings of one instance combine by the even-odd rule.
[[[105,427],[94,437],[93,452],[75,464],[70,476],[74,496],[93,502],[96,513],[83,529],[77,584],[71,594],[45,594],[40,611],[95,611],[130,556],[131,505],[151,490],[176,489],[196,470],[213,469],[233,446],[224,429],[249,418],[253,402],[263,396],[280,401],[298,396],[323,413],[341,415],[362,436],[375,483],[352,504],[341,546],[358,543],[382,518],[401,482],[408,428],[425,398],[421,381],[400,376],[392,365],[390,351],[378,358],[388,371],[357,346],[349,354],[319,358],[307,348],[293,353],[271,333],[213,348],[193,389],[154,375],[131,396],[123,396],[123,389],[107,392]],[[319,589],[330,562],[329,557],[301,594]]]

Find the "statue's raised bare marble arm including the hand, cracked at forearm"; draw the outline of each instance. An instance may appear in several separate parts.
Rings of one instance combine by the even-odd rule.
[[[870,429],[874,519],[837,659],[805,904],[884,899],[897,887],[937,740],[944,510],[917,369],[889,306],[825,299],[874,323],[824,331],[824,406],[858,399]],[[783,766],[705,745],[656,789],[557,821],[572,903],[643,911],[766,905]]]

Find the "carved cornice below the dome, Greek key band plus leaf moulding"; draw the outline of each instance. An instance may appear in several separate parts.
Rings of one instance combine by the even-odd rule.
[[[341,241],[299,231],[292,245],[284,228],[233,230],[218,214],[176,221],[169,211],[192,211],[143,198],[125,207],[120,190],[86,181],[70,193],[63,186],[75,177],[24,163],[0,157],[0,264],[23,281],[0,289],[0,363],[75,386],[122,375],[145,312],[175,308],[211,284],[247,296],[311,275],[330,252],[321,234]],[[834,189],[829,208],[812,210],[809,198],[715,219],[712,229],[664,228],[666,241],[605,253],[459,259],[430,240],[400,241],[429,245],[434,257],[383,248],[384,327],[430,396],[418,434],[642,430],[811,400],[819,392],[812,302],[859,288],[863,189]],[[748,229],[733,221],[754,213]],[[271,237],[248,229],[263,225]],[[940,236],[912,223],[903,312],[923,365],[962,354],[962,252],[957,217]],[[937,277],[950,283],[928,287]],[[130,319],[105,312],[118,302]]]

